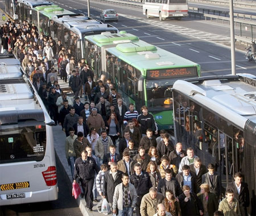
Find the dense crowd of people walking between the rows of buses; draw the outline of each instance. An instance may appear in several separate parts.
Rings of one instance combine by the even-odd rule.
[[[34,24],[10,20],[0,37],[3,52],[19,59],[55,125],[63,128],[73,181],[90,211],[99,194],[118,215],[247,215],[242,173],[223,192],[214,164],[205,166],[192,148],[174,145],[165,130],[156,137],[148,108],[139,113],[133,103],[123,103],[105,75],[95,82],[86,61],[76,60],[61,41],[39,34]],[[58,79],[69,83],[73,97]]]

